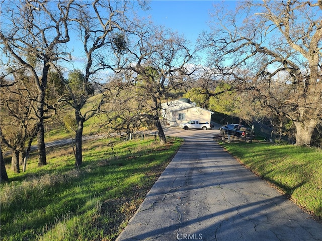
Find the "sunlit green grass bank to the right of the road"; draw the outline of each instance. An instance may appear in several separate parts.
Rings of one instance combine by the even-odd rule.
[[[225,143],[240,163],[322,218],[322,150],[266,143]]]

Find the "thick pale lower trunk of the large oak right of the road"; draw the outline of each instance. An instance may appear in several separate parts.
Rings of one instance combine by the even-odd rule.
[[[316,123],[315,119],[308,119],[304,122],[294,122],[296,128],[296,146],[310,146]]]

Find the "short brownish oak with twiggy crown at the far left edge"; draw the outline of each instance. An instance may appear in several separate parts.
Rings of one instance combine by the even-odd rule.
[[[28,158],[30,146],[37,133],[37,90],[29,76],[15,72],[15,81],[1,80],[1,126],[0,136],[3,147],[10,148],[12,169],[20,172],[20,164]],[[9,83],[14,82],[14,85]],[[25,144],[28,141],[25,150]],[[24,170],[25,171],[25,165]]]

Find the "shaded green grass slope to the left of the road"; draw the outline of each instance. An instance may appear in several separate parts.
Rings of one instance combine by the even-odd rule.
[[[1,184],[1,240],[115,240],[182,140],[153,138],[85,142],[83,165],[71,147],[47,149],[48,164]],[[112,146],[114,153],[112,152]]]

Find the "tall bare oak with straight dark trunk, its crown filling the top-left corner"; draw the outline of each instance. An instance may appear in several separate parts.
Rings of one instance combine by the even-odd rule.
[[[23,66],[37,87],[38,165],[46,165],[44,119],[47,75],[59,59],[68,57],[64,44],[69,41],[68,14],[70,1],[20,0],[3,1],[1,8],[1,49],[7,69]],[[6,73],[3,73],[6,75]]]

